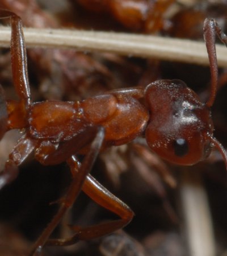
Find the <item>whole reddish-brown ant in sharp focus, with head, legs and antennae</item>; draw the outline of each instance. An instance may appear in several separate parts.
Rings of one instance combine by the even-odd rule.
[[[215,146],[227,167],[227,154],[213,137],[210,110],[217,92],[216,33],[222,42],[227,42],[214,19],[205,19],[204,23],[211,69],[211,93],[205,104],[181,80],[158,80],[146,88],[112,90],[77,102],[32,102],[22,20],[7,10],[0,10],[0,16],[11,18],[12,76],[19,96],[19,101],[5,100],[0,88],[0,136],[10,129],[24,130],[5,164],[0,187],[15,179],[18,166],[32,151],[41,164],[49,166],[66,161],[72,172],[68,192],[60,200],[57,214],[36,241],[31,255],[39,255],[44,245],[71,245],[104,236],[132,220],[132,210],[90,175],[96,157],[106,147],[119,146],[142,135],[150,149],[163,159],[192,165],[207,158]],[[82,162],[78,155],[84,156]],[[86,228],[72,226],[74,236],[49,240],[81,190],[120,218]]]

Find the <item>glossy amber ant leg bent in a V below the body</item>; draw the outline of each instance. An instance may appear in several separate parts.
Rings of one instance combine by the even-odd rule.
[[[72,245],[79,240],[90,240],[101,237],[123,228],[132,220],[134,213],[128,205],[124,204],[123,201],[104,188],[93,176],[87,175],[82,190],[96,203],[120,216],[120,220],[107,221],[86,228],[71,226],[70,228],[77,232],[73,237],[68,239],[48,240],[47,245]]]

